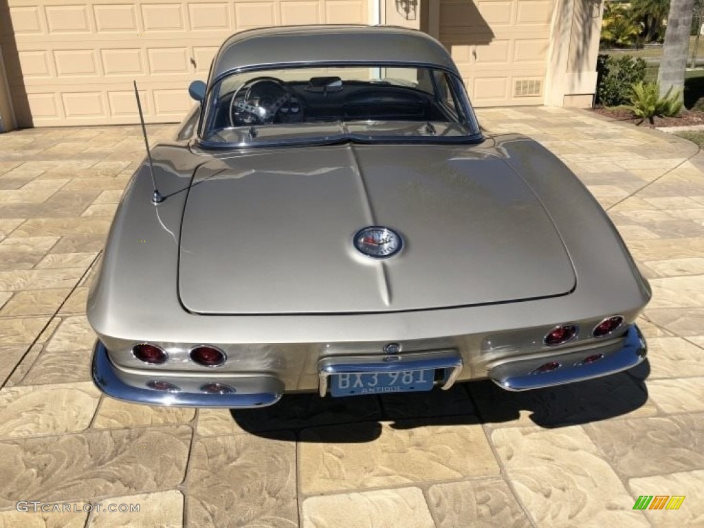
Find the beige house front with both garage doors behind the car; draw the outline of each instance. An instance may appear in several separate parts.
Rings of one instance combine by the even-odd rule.
[[[185,87],[206,77],[232,32],[374,23],[375,13],[440,39],[476,106],[588,106],[601,9],[599,0],[8,0],[0,116],[6,128],[134,122],[136,79],[146,120],[177,121],[192,103]]]

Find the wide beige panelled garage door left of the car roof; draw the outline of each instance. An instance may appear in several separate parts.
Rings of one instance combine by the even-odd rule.
[[[233,32],[367,23],[367,1],[9,0],[0,44],[15,114],[35,127],[133,123],[134,79],[148,122],[180,121],[189,82]]]

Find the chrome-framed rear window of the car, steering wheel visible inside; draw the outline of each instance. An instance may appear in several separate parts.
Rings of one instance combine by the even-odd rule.
[[[206,96],[201,143],[474,142],[462,81],[444,70],[355,65],[233,73]]]

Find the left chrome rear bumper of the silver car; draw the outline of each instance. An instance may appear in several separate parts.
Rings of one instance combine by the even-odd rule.
[[[144,372],[144,381],[157,375],[157,372]],[[202,392],[167,392],[146,389],[142,386],[134,386],[124,382],[118,374],[118,369],[113,365],[108,357],[108,351],[101,341],[96,341],[93,351],[92,365],[93,382],[103,393],[118,400],[130,401],[132,403],[145,403],[152,406],[168,407],[226,407],[226,408],[259,408],[277,403],[284,392],[284,384],[279,379],[270,375],[243,376],[241,382],[249,386],[250,390],[239,391],[237,388],[237,377],[227,378],[227,382],[219,379],[208,379],[211,383],[222,383],[232,386],[237,392],[233,394],[206,394]],[[161,376],[164,381],[172,382],[180,387],[184,382],[191,382],[187,377],[177,377],[171,372],[164,372]],[[202,378],[196,378],[196,382],[203,384]],[[256,391],[251,390],[255,387]]]

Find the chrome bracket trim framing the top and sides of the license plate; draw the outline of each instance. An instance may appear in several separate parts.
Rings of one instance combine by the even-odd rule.
[[[320,396],[327,394],[327,378],[334,374],[372,374],[374,372],[403,372],[406,370],[434,370],[451,368],[447,381],[440,387],[449,389],[462,372],[462,356],[456,350],[407,353],[398,356],[346,356],[325,358],[318,362]]]

